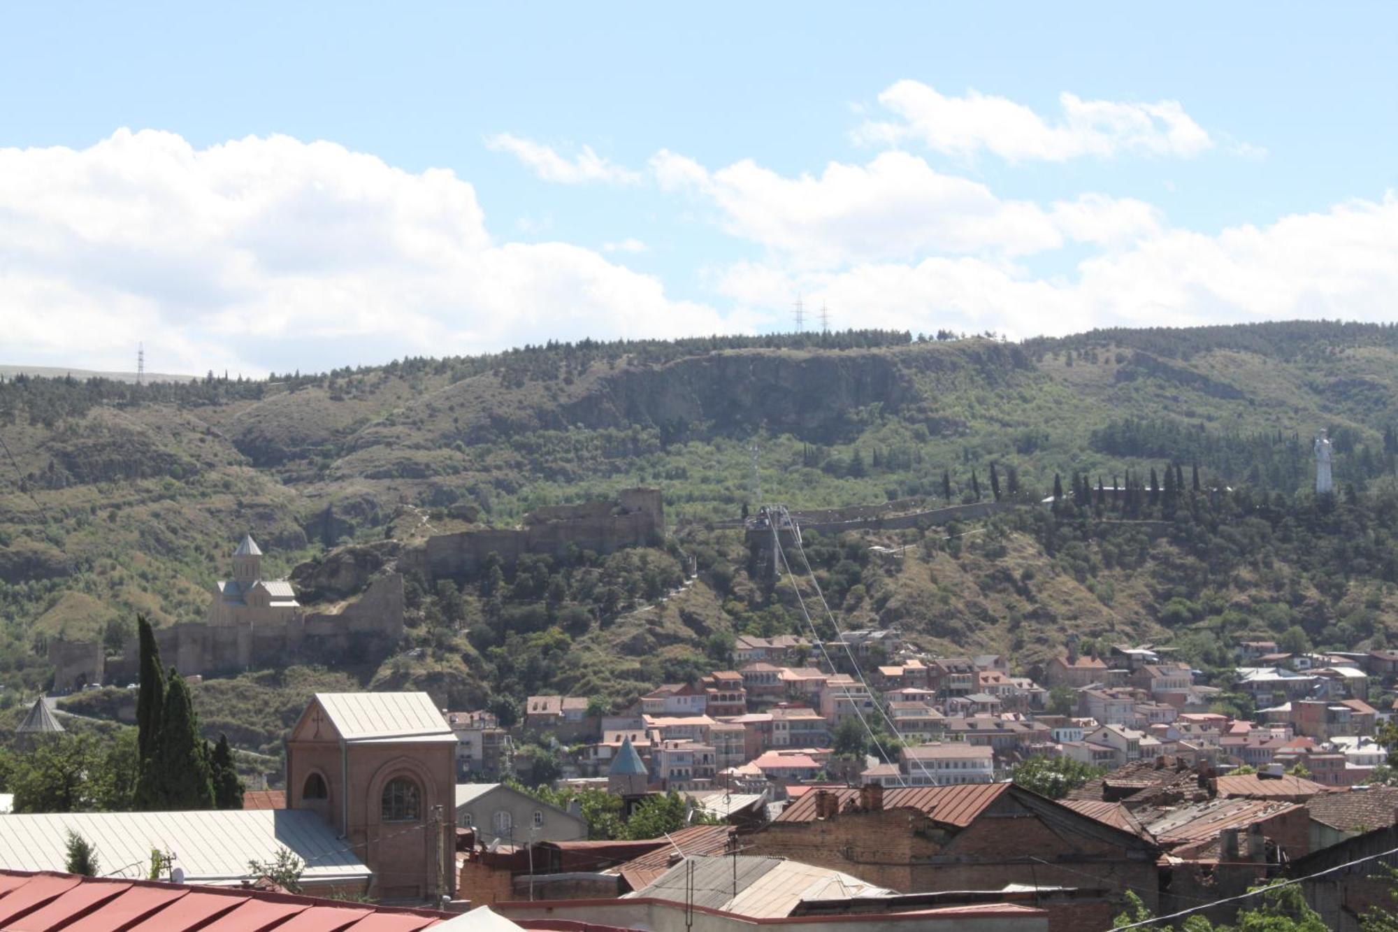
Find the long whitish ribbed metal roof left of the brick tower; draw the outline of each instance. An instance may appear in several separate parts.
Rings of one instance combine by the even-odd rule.
[[[306,862],[308,882],[370,876],[316,813],[289,809],[0,816],[0,869],[62,870],[70,830],[119,877],[144,877],[158,848],[175,854],[190,883],[233,883],[252,877],[249,861],[271,861],[281,847]]]

